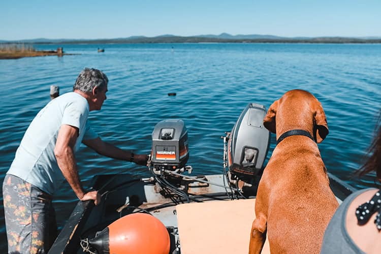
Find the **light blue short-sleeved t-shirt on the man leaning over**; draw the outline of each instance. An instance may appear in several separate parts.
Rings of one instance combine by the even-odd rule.
[[[54,155],[60,126],[68,124],[78,128],[74,147],[77,151],[82,139],[98,137],[87,124],[88,114],[87,100],[78,93],[68,92],[50,101],[28,126],[7,174],[20,177],[52,195],[65,179]]]

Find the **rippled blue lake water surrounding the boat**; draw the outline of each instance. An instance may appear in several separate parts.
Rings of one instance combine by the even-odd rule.
[[[181,118],[188,129],[194,174],[221,173],[223,141],[249,102],[268,108],[285,91],[313,93],[323,104],[330,134],[319,145],[329,172],[356,188],[372,178],[352,173],[370,143],[381,102],[381,45],[333,44],[135,44],[63,46],[63,57],[0,60],[0,180],[35,114],[49,102],[50,85],[72,90],[84,67],[103,70],[110,79],[101,111],[90,122],[104,140],[137,153],[149,153],[154,125]],[[105,48],[98,53],[97,48]],[[173,47],[173,49],[172,49]],[[176,92],[176,97],[168,97]],[[269,155],[274,148],[275,137]],[[269,156],[268,155],[268,156]],[[144,167],[102,157],[83,147],[77,156],[88,186],[98,173],[148,175]],[[56,195],[58,225],[77,202],[67,183]],[[0,252],[5,252],[3,207]]]

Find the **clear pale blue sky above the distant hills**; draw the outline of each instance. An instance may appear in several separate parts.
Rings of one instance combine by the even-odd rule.
[[[381,0],[2,2],[0,40],[220,33],[381,37]]]

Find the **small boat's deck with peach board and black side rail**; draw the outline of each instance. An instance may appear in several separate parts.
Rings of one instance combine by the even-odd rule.
[[[227,183],[223,175],[203,177],[220,186],[194,182],[187,189],[188,200],[174,203],[154,182],[128,174],[98,176],[94,188],[104,193],[101,204],[94,207],[92,202],[78,202],[49,253],[84,253],[81,239],[91,239],[112,221],[142,209],[173,229],[173,234],[169,230],[171,246],[176,249],[179,244],[181,253],[247,253],[255,197],[231,200],[230,188],[221,187]],[[331,175],[330,184],[339,202],[353,191]],[[269,250],[266,241],[262,253]]]

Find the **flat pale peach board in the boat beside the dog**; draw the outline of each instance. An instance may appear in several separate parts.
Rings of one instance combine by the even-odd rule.
[[[181,254],[248,253],[254,208],[255,199],[177,205]]]

